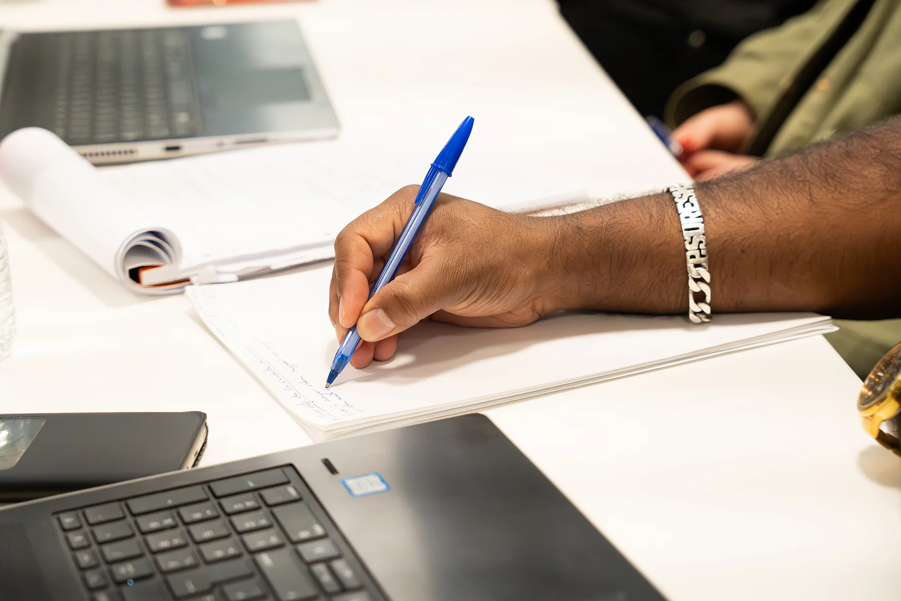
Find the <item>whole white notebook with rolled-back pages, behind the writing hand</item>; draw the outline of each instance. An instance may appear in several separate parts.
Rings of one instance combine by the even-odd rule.
[[[431,150],[314,141],[98,169],[53,133],[26,128],[0,144],[0,178],[125,287],[162,295],[332,258],[344,225],[422,181],[444,140],[419,142]],[[512,211],[587,196],[505,163],[490,145],[483,153],[460,161],[446,192]]]

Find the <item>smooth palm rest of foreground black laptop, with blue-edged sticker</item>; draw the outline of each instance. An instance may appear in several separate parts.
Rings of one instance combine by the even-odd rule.
[[[486,418],[391,434],[298,468],[393,601],[662,600]]]

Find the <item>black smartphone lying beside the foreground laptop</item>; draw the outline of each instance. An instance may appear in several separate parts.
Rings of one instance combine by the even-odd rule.
[[[0,501],[196,466],[206,414],[0,414]]]

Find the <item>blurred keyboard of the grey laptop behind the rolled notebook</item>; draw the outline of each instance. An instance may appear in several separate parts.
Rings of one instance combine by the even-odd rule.
[[[73,145],[198,135],[190,52],[179,29],[60,33],[53,131]]]

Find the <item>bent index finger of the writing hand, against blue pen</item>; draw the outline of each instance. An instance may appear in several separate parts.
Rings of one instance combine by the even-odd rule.
[[[335,239],[334,296],[337,323],[350,328],[369,299],[369,278],[376,258],[394,247],[404,223],[413,212],[418,186],[403,187],[385,202],[350,222]]]

